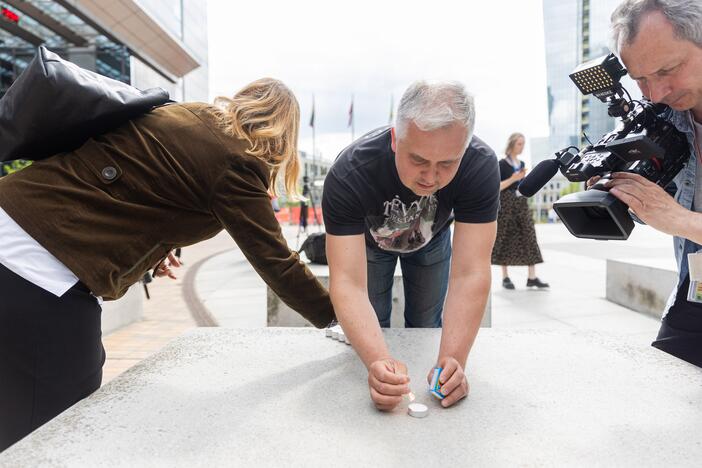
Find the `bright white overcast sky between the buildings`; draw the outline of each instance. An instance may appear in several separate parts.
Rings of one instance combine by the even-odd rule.
[[[210,98],[269,76],[300,103],[300,150],[333,160],[388,125],[418,79],[457,80],[476,102],[475,134],[504,152],[510,133],[548,135],[541,0],[208,2]]]

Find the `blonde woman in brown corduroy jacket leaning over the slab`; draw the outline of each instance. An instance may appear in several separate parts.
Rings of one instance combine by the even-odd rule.
[[[297,191],[300,111],[280,81],[171,104],[0,179],[0,451],[99,386],[101,299],[226,229],[290,307],[324,327],[327,291],[270,203]]]

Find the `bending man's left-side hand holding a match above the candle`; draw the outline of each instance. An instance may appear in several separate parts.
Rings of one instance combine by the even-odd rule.
[[[391,411],[410,391],[407,366],[392,358],[374,361],[368,367],[368,387],[375,407]]]

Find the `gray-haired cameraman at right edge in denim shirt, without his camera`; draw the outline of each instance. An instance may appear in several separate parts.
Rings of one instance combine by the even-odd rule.
[[[678,285],[653,346],[702,367],[702,303],[688,300],[687,257],[702,252],[702,1],[625,0],[611,29],[631,78],[651,101],[670,106],[668,120],[690,144],[675,199],[637,174],[615,173],[607,186],[646,224],[675,236]]]

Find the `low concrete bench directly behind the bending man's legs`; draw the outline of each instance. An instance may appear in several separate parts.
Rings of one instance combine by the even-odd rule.
[[[308,264],[312,273],[319,279],[319,282],[324,287],[329,287],[329,267],[327,265]],[[267,311],[268,311],[268,326],[269,327],[305,327],[312,326],[300,314],[292,310],[271,288],[267,288]],[[401,328],[405,326],[404,318],[405,310],[405,295],[404,286],[402,284],[402,270],[399,267],[395,269],[395,277],[392,285],[392,313],[390,315],[390,326],[393,328]],[[480,323],[481,327],[492,326],[492,314],[490,307],[490,295],[488,302],[485,305],[485,313],[483,320]]]

